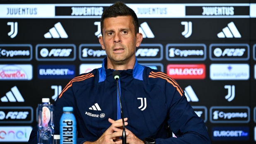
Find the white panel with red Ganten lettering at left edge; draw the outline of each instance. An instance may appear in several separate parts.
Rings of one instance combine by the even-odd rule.
[[[0,80],[31,80],[31,64],[0,64]]]

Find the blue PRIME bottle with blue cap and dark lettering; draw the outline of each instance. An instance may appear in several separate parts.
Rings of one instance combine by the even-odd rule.
[[[60,118],[60,144],[77,143],[77,122],[73,114],[73,107],[63,107]]]

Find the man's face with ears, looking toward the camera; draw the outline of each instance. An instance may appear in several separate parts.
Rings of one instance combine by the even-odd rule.
[[[114,64],[126,64],[135,59],[136,47],[140,46],[142,34],[135,34],[131,16],[104,19],[102,37],[99,42],[106,50],[107,59]]]

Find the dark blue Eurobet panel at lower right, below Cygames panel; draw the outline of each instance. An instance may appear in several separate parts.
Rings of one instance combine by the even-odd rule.
[[[249,140],[249,127],[213,127],[212,139],[216,141]]]

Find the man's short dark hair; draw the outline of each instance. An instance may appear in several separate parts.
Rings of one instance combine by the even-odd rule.
[[[101,26],[102,35],[103,35],[102,29],[104,27],[104,19],[110,18],[110,17],[118,17],[118,16],[132,16],[135,35],[139,33],[139,21],[133,9],[131,9],[130,7],[127,7],[127,5],[125,5],[123,2],[115,2],[114,5],[111,5],[101,15],[100,26]]]

